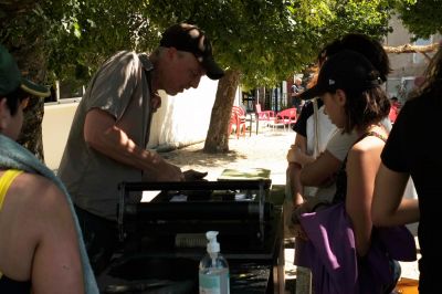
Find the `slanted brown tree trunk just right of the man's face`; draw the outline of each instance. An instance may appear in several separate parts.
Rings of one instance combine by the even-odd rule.
[[[229,151],[229,122],[232,113],[235,92],[240,83],[239,71],[229,70],[218,83],[209,130],[206,136],[204,153],[218,154]]]

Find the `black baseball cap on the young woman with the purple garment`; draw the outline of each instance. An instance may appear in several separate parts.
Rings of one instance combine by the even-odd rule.
[[[343,50],[328,57],[319,70],[315,86],[297,97],[312,99],[338,88],[345,91],[365,91],[382,84],[379,72],[360,53]]]

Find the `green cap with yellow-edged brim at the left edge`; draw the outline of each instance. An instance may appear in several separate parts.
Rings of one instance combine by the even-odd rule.
[[[48,87],[38,85],[21,76],[15,60],[8,50],[0,44],[0,96],[14,92],[18,87],[38,97],[48,97],[51,92]]]

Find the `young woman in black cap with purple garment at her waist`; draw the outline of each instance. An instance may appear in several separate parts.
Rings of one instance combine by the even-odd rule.
[[[304,93],[304,98],[314,97],[323,99],[333,124],[358,139],[338,171],[335,204],[299,217],[311,252],[297,264],[312,269],[315,293],[390,293],[399,269],[389,254],[412,260],[415,248],[407,229],[398,228],[403,242],[394,245],[408,251],[385,251],[371,222],[375,177],[388,136],[381,120],[390,109],[379,72],[364,55],[341,51],[325,61],[317,84]]]

